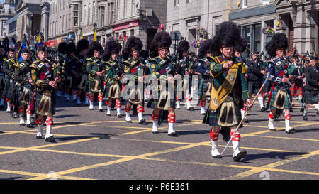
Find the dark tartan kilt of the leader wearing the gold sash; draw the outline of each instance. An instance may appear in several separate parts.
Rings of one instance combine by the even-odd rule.
[[[235,102],[234,102],[234,104],[235,104],[236,117],[237,117],[237,121],[239,124],[240,121],[242,120],[242,114],[240,114],[240,104],[237,104]],[[218,107],[216,112],[213,112],[211,107],[208,107],[206,114],[205,114],[205,117],[203,118],[203,124],[209,124],[209,126],[220,126],[220,125],[218,125],[218,118],[220,116],[220,109],[221,109],[221,106]],[[230,127],[232,127],[232,126],[230,126]]]

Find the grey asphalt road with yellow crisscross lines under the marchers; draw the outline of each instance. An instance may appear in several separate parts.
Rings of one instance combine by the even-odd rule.
[[[177,110],[178,136],[171,137],[166,123],[159,134],[151,133],[151,109],[145,108],[146,125],[138,124],[137,115],[128,124],[116,117],[116,110],[107,117],[97,106],[90,111],[60,98],[52,129],[56,143],[35,139],[35,128],[19,126],[18,119],[4,109],[0,111],[0,179],[318,180],[315,110],[310,109],[304,122],[302,113],[294,109],[291,126],[296,131],[286,134],[283,117],[276,119],[277,131],[269,131],[268,113],[259,109],[256,104],[250,122],[240,129],[240,146],[247,156],[237,163],[231,144],[222,159],[211,157],[210,126],[201,124],[199,107]],[[226,142],[220,138],[218,144],[221,152]]]

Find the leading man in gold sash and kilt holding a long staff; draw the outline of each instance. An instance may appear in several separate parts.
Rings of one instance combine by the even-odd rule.
[[[216,36],[213,38],[211,50],[216,50],[219,55],[213,58],[211,75],[213,87],[211,92],[211,104],[206,111],[204,124],[212,126],[211,129],[211,156],[222,158],[218,151],[217,141],[220,128],[230,127],[230,136],[233,136],[233,160],[240,161],[245,158],[247,152],[240,151],[240,133],[236,132],[237,125],[241,120],[240,108],[243,107],[242,99],[247,106],[252,102],[248,97],[247,84],[245,82],[245,67],[241,58],[233,59],[232,55],[236,40],[240,39],[240,31],[233,22],[220,23],[216,28]]]

